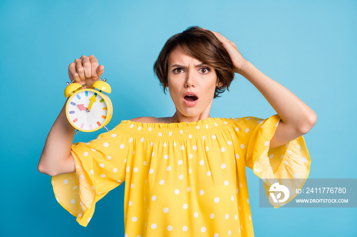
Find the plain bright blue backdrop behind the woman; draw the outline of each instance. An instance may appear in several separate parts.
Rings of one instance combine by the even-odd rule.
[[[56,201],[37,164],[61,110],[68,65],[93,54],[112,86],[113,119],[172,116],[152,71],[166,40],[188,26],[216,31],[317,113],[306,135],[312,178],[355,178],[356,1],[4,1],[0,2],[1,236],[123,236],[124,185],[80,226]],[[267,118],[273,108],[236,74],[212,117]],[[104,130],[80,132],[88,141]],[[247,170],[256,236],[356,236],[353,208],[259,208]]]

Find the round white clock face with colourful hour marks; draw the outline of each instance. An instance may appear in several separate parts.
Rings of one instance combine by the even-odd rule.
[[[80,131],[103,127],[108,115],[107,101],[95,90],[82,90],[67,102],[67,118]]]

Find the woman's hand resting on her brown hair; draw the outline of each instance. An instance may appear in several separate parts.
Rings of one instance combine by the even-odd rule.
[[[206,29],[206,28],[203,28],[203,29]],[[215,34],[217,39],[222,43],[224,49],[227,51],[228,55],[230,55],[232,63],[233,63],[234,72],[235,73],[240,73],[241,70],[242,70],[242,66],[246,62],[246,60],[242,56],[242,54],[238,51],[238,48],[236,47],[236,44],[233,43],[232,41],[227,40],[220,33],[213,32],[213,31],[210,31],[210,32]]]

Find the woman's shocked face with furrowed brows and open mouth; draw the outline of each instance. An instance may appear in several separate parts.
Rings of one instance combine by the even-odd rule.
[[[198,61],[177,46],[169,57],[168,87],[180,119],[190,117],[198,121],[209,117],[213,96],[218,83],[217,74],[210,65]],[[184,95],[187,92],[195,96]]]

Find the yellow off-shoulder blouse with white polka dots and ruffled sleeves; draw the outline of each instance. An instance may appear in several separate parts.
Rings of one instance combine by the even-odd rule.
[[[72,145],[76,171],[53,177],[56,199],[87,226],[95,203],[125,181],[127,237],[253,236],[245,166],[263,180],[306,179],[310,171],[302,136],[269,149],[279,121],[277,114],[121,121],[95,140]]]

